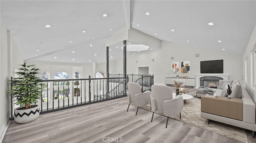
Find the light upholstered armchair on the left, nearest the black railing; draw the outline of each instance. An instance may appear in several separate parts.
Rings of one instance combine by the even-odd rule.
[[[134,104],[137,108],[136,115],[138,113],[138,109],[140,106],[145,106],[150,103],[150,91],[141,92],[140,84],[135,82],[128,82],[128,91],[127,91],[127,97],[128,97],[128,109],[130,104]]]

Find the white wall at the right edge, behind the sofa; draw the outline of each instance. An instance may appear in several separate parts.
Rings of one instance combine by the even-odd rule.
[[[245,78],[245,71],[247,71],[247,81],[246,79],[243,80],[243,85],[250,94],[252,100],[256,104],[256,86],[254,83],[255,77],[255,63],[254,60],[254,50],[256,49],[256,25],[254,27],[254,30],[252,32],[251,38],[248,42],[248,45],[246,47],[246,50],[243,55],[243,63],[245,63],[245,59],[247,57],[247,69],[245,70],[245,65],[243,67],[243,76]]]

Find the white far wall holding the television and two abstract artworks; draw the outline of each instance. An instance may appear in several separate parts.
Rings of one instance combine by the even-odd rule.
[[[195,57],[197,53],[200,57]],[[170,60],[170,57],[174,57],[174,60]],[[154,61],[152,62],[151,59]],[[224,60],[224,74],[228,74],[229,79],[242,81],[242,55],[230,54],[221,49],[214,51],[168,41],[162,41],[159,50],[127,55],[127,74],[138,74],[138,67],[149,67],[149,74],[154,74],[154,83],[164,84],[165,77],[183,76],[183,74],[167,74],[166,70],[171,69],[172,62],[190,61],[190,74],[184,75],[195,78],[196,74],[200,74],[200,61],[218,59]],[[122,61],[122,58],[116,61],[117,73],[123,71]]]

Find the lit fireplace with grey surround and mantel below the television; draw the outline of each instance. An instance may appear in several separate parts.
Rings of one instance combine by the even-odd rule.
[[[223,78],[218,76],[203,76],[200,77],[200,86],[209,86],[210,88],[217,88],[219,85],[219,80]]]

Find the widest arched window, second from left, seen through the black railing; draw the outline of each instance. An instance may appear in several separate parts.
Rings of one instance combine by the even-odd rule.
[[[66,72],[57,72],[53,76],[53,79],[68,79],[68,78],[70,78],[70,76]],[[54,89],[54,99],[58,99],[58,98],[61,99],[61,98],[70,96],[70,88],[68,88],[69,85],[70,85],[69,81],[54,82],[54,86],[62,87],[62,89],[59,89],[59,90]]]

